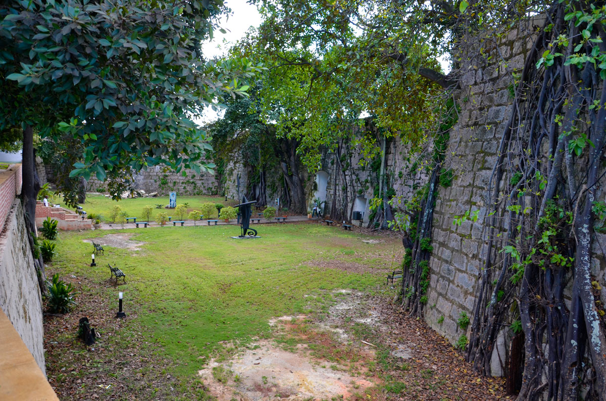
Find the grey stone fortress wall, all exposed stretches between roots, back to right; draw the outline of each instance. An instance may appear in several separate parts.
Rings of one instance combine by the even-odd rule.
[[[524,66],[532,45],[533,26],[541,24],[539,18],[524,22],[499,38],[482,43],[493,55],[490,62],[462,57],[462,74],[458,88],[453,93],[455,104],[460,108],[458,122],[450,130],[444,164],[445,168],[452,168],[454,177],[450,187],[438,187],[433,221],[434,251],[430,259],[430,287],[425,305],[427,323],[451,343],[466,334],[456,324],[461,312],[473,315],[475,287],[484,245],[482,231],[486,228],[484,217],[487,214],[485,202],[488,182],[512,107],[514,73],[519,73]],[[427,172],[414,159],[410,159],[413,157],[409,154],[410,148],[398,138],[388,141],[385,150],[388,190],[395,196],[409,198],[428,181]],[[346,148],[344,153],[347,157],[339,166],[334,153],[325,154],[322,170],[316,174],[317,188],[310,190],[308,198],[324,196],[325,210],[330,211],[333,198],[342,202],[347,196],[345,216],[349,219],[352,211],[361,211],[363,219],[354,223],[364,224],[368,222],[369,202],[375,196],[375,186],[378,185],[376,165],[373,168],[371,163],[360,164],[363,156],[359,148]],[[179,178],[177,174],[167,176],[158,168],[150,169],[138,175],[136,189],[162,193],[163,188],[159,184],[164,178],[168,182],[178,182],[176,185],[183,187],[182,190],[176,188],[179,193],[201,191],[214,194],[219,191],[219,194],[236,199],[236,176],[241,175],[242,194],[247,182],[246,170],[236,158],[227,166],[225,174],[223,188],[215,176],[190,177],[190,181],[198,180],[194,189],[186,188],[192,185],[187,178]],[[308,184],[310,179],[313,176],[307,177]],[[93,180],[89,185],[95,189]],[[310,187],[307,185],[306,189]],[[274,196],[268,193],[268,202]],[[459,227],[453,225],[454,216],[474,210],[479,210],[478,221],[467,221]],[[602,248],[606,249],[606,236],[596,234],[596,237],[592,273],[604,287],[606,259]],[[602,294],[605,296],[606,291]],[[497,347],[501,351],[504,348],[503,344]],[[493,360],[498,362],[498,356],[495,355]],[[500,371],[497,365],[493,366],[493,373]]]

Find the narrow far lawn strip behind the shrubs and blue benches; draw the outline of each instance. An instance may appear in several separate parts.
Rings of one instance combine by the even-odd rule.
[[[187,203],[188,211],[191,210],[199,210],[200,205],[205,202],[213,202],[213,204],[222,204],[225,206],[233,206],[236,205],[236,202],[233,199],[228,199],[225,201],[224,197],[221,196],[179,196],[177,195],[177,204]],[[161,204],[163,207],[161,209],[156,209],[156,205]],[[82,208],[90,215],[91,213],[101,214],[102,219],[104,221],[108,220],[108,216],[110,215],[110,211],[113,207],[118,205],[122,210],[128,213],[128,217],[137,217],[141,218],[142,210],[144,206],[153,207],[153,214],[150,217],[150,220],[154,220],[154,216],[156,213],[161,211],[167,211],[164,206],[168,205],[168,196],[159,196],[159,197],[137,197],[132,199],[121,199],[121,200],[112,200],[110,197],[105,197],[103,195],[93,195],[87,194],[86,202],[81,204]],[[169,210],[169,215],[170,210]],[[184,216],[187,219],[187,216]],[[218,217],[218,216],[212,216]]]

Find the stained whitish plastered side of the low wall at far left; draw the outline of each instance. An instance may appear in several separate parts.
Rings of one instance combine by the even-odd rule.
[[[23,208],[18,199],[13,199],[4,230],[0,233],[0,277],[0,308],[45,372],[42,299]]]

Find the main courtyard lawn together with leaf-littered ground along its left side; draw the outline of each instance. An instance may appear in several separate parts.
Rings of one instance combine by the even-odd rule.
[[[142,200],[148,199],[128,203]],[[384,293],[385,272],[401,258],[397,239],[368,244],[367,236],[321,224],[264,225],[261,239],[230,238],[238,232],[228,226],[62,232],[47,273],[59,273],[79,294],[72,313],[48,317],[45,327],[48,377],[59,396],[132,398],[120,393],[123,387],[136,399],[203,397],[196,373],[209,357],[271,337],[272,317],[327,311],[333,290]],[[90,267],[93,247],[84,240],[96,237],[113,238],[114,246],[105,245],[105,256]],[[125,285],[108,280],[108,262],[127,274]],[[125,320],[114,317],[118,291]],[[82,316],[101,333],[93,351],[75,338]],[[113,386],[101,390],[96,383]]]

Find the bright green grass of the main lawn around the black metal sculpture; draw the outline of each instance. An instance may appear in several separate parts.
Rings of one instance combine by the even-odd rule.
[[[109,204],[107,200],[103,203],[102,197],[90,200],[99,211],[104,210],[103,204]],[[181,200],[191,205],[202,198]],[[144,205],[150,199],[132,201]],[[115,332],[106,341],[124,341],[129,344],[127,348],[152,347],[154,354],[172,362],[172,374],[191,382],[204,365],[201,358],[221,350],[219,342],[242,345],[254,337],[271,336],[271,317],[326,310],[330,290],[384,291],[385,274],[378,270],[399,263],[391,261],[398,257],[401,248],[395,239],[365,244],[361,234],[320,224],[258,228],[262,238],[247,240],[231,239],[239,233],[239,228],[233,226],[61,232],[58,254],[48,271],[90,283],[76,287],[95,292],[99,305],[111,305],[107,306],[107,317],[102,310],[104,317],[97,318],[107,320],[107,325],[113,325],[115,299],[118,291],[123,291],[127,312],[134,312],[133,320],[147,333],[142,335],[145,342],[133,345],[132,333],[125,328],[111,329]],[[97,257],[97,267],[89,267],[92,245],[82,240],[116,233],[133,233],[133,240],[144,243],[142,249],[105,247],[105,256]],[[327,260],[355,262],[367,272],[350,274],[313,263]],[[126,285],[115,288],[107,281],[108,262],[116,263],[127,274]],[[74,319],[88,313],[86,308],[87,305],[78,305]],[[73,341],[72,337],[69,341]],[[82,346],[73,344],[76,348]],[[62,357],[53,354],[50,360],[57,358]],[[104,363],[103,357],[99,358],[99,363]],[[48,374],[55,383],[53,367]]]

